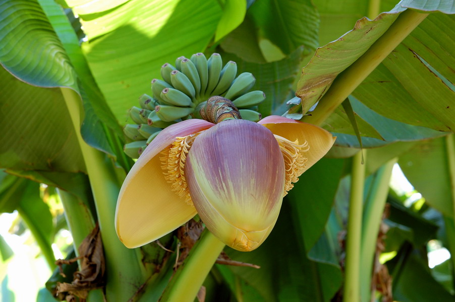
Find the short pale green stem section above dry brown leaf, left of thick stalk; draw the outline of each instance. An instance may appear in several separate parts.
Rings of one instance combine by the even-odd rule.
[[[57,189],[65,210],[65,218],[73,236],[73,246],[76,256],[79,256],[78,247],[95,228],[95,222],[89,207],[78,197],[64,190]]]

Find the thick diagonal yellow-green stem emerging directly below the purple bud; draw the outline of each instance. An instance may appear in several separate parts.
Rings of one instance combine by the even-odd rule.
[[[224,244],[207,229],[166,287],[161,302],[192,302]]]

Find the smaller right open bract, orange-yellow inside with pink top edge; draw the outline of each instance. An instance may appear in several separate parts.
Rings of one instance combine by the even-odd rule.
[[[282,116],[267,116],[258,123],[267,127],[273,134],[291,141],[297,139],[300,144],[304,143],[305,140],[308,142],[309,149],[304,154],[308,161],[303,172],[316,164],[330,150],[336,139],[330,132],[321,127]]]

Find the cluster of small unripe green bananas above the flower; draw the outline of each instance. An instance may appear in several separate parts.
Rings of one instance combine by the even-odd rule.
[[[124,133],[131,141],[124,147],[131,158],[138,158],[145,147],[165,127],[182,120],[200,118],[199,110],[210,97],[231,100],[242,119],[261,119],[257,105],[265,100],[262,91],[249,90],[256,83],[250,72],[237,75],[234,61],[222,65],[221,56],[213,53],[207,60],[201,52],[190,59],[176,59],[175,66],[161,66],[163,80],[152,80],[152,95],[139,98],[139,107],[132,107],[129,116],[135,124],[127,124]]]

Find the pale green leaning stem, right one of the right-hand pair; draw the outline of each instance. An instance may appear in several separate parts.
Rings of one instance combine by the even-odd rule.
[[[390,160],[376,172],[369,197],[365,202],[360,257],[360,293],[362,301],[369,301],[371,299],[371,278],[376,241],[389,191],[390,176],[393,165],[397,160],[397,158]]]

